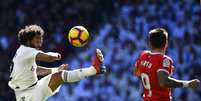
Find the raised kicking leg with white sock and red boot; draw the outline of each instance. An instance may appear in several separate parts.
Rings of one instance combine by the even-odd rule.
[[[55,91],[62,83],[77,82],[89,76],[105,73],[106,68],[103,65],[103,60],[103,54],[99,49],[97,49],[95,52],[95,56],[92,59],[92,66],[72,71],[63,70],[54,73],[51,76],[48,86],[51,88],[52,91]]]

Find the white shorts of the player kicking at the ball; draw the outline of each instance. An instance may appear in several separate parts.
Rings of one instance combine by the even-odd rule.
[[[38,81],[38,83],[26,90],[15,91],[17,101],[46,101],[48,97],[57,93],[61,86],[59,86],[54,92],[49,88],[52,74],[49,74]]]

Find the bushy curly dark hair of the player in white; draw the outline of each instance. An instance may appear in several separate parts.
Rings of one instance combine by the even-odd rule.
[[[44,30],[38,25],[27,25],[18,32],[20,44],[27,45],[35,35],[43,35]]]

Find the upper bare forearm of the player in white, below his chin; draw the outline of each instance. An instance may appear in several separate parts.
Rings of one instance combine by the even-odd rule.
[[[38,61],[54,62],[60,59],[61,59],[61,54],[59,53],[48,52],[48,53],[38,53],[36,55],[36,60]]]

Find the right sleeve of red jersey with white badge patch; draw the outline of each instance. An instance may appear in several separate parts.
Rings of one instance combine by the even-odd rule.
[[[173,62],[169,58],[163,58],[162,61],[159,63],[159,66],[157,68],[157,72],[164,71],[168,73],[169,75],[172,74],[173,71]]]

